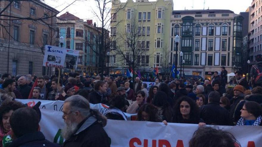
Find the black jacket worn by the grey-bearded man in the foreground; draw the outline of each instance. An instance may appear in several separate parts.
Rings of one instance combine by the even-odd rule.
[[[82,122],[76,134],[64,142],[64,147],[110,147],[110,138],[102,125],[91,118]]]

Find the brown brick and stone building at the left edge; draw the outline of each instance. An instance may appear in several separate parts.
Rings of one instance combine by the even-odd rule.
[[[45,45],[55,44],[53,16],[58,11],[41,1],[13,1],[10,7],[8,4],[9,1],[0,1],[0,10],[7,7],[0,14],[0,73],[50,74],[51,69],[42,67],[43,51]]]

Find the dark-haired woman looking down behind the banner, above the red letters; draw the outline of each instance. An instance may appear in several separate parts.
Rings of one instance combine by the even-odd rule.
[[[142,107],[139,108],[136,120],[162,122],[162,119],[158,113],[158,108],[149,103],[144,104]]]

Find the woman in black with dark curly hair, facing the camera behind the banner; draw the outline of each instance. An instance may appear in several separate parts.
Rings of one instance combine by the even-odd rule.
[[[184,96],[177,100],[174,106],[174,123],[205,125],[199,117],[199,108],[191,98]]]

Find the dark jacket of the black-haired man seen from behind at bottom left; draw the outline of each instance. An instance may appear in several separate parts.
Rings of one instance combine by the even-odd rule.
[[[45,145],[44,147],[61,147],[59,144],[46,140],[42,132],[21,136],[13,140],[8,147],[43,147],[43,145]]]

